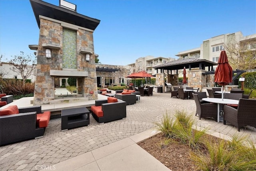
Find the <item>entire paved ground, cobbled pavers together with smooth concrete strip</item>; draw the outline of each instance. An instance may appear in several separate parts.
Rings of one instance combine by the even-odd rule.
[[[76,107],[77,104],[68,105]],[[153,93],[153,96],[141,97],[139,103],[127,105],[126,109],[126,119],[99,125],[90,116],[90,125],[68,131],[61,131],[60,118],[51,119],[43,138],[0,147],[0,169],[168,170],[136,143],[154,135],[154,122],[161,121],[165,113],[173,116],[177,109],[193,114],[198,129],[208,128],[210,134],[226,139],[234,133],[248,135],[256,143],[256,129],[253,127],[238,132],[234,126],[213,119],[199,120],[194,115],[196,105],[193,99],[182,100],[170,98],[170,93]]]

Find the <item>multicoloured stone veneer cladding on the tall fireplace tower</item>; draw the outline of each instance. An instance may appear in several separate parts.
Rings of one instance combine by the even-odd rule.
[[[81,48],[94,52],[93,33],[77,30],[77,71],[87,71],[88,77],[78,79],[81,84],[81,93],[88,99],[98,99],[97,80],[94,53],[90,61],[85,60],[85,54],[79,54]],[[60,50],[52,49],[52,58],[45,57],[45,48],[42,44],[60,46]],[[36,66],[36,81],[34,91],[34,105],[49,104],[54,99],[54,76],[50,76],[50,70],[62,70],[62,26],[60,23],[40,18],[40,35],[38,42],[38,57]]]

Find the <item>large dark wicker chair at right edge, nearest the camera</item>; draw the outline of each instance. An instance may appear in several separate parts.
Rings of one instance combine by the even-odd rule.
[[[240,131],[241,127],[250,125],[256,128],[256,99],[239,99],[238,109],[224,105],[224,120],[237,127]]]

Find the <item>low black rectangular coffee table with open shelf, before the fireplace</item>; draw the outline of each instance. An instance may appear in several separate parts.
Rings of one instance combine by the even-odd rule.
[[[86,107],[61,110],[61,130],[87,126],[90,124],[90,111]]]

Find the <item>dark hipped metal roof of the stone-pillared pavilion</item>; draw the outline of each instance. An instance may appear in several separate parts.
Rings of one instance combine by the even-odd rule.
[[[185,58],[185,59],[181,59],[181,60],[171,61],[171,62],[161,64],[158,66],[154,66],[153,68],[163,69],[163,70],[182,70],[182,69],[184,69],[184,67],[200,68],[200,66],[208,67],[208,66],[215,66],[215,65],[218,65],[218,64],[215,62],[205,60],[205,59]]]

